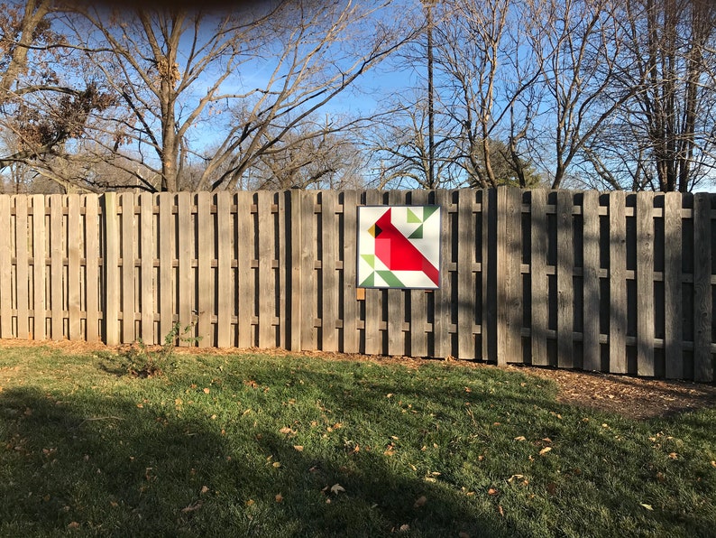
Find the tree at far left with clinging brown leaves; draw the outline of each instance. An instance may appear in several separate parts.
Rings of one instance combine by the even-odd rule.
[[[0,168],[44,170],[44,161],[86,134],[90,116],[113,97],[84,77],[66,37],[53,21],[68,10],[52,0],[9,3],[0,10],[0,129],[5,153]],[[46,171],[45,171],[46,172]]]

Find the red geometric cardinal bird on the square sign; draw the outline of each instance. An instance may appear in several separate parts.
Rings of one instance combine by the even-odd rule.
[[[393,226],[390,211],[388,209],[375,222],[375,255],[390,271],[422,271],[436,286],[440,285],[436,266]]]

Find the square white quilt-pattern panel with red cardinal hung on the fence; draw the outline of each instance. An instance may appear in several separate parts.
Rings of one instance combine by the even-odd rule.
[[[358,208],[358,286],[440,286],[440,208]]]

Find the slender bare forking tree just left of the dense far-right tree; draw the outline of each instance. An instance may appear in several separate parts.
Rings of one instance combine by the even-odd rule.
[[[574,160],[640,89],[619,87],[624,28],[616,0],[549,0],[531,5],[529,44],[539,62],[541,119],[532,126],[535,160],[563,185]]]

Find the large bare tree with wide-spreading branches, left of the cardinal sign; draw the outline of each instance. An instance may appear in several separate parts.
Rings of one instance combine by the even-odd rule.
[[[267,155],[326,135],[323,125],[310,128],[317,110],[399,46],[400,32],[381,23],[385,7],[87,9],[91,26],[73,22],[75,39],[130,110],[98,128],[96,155],[146,190],[236,188]],[[197,162],[201,177],[181,184],[183,167],[196,171]]]

